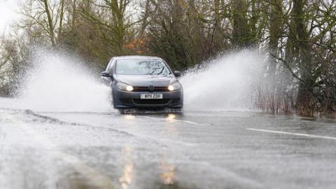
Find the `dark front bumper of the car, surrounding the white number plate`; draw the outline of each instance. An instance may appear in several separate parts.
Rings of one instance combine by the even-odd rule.
[[[162,99],[141,99],[141,94],[162,94]],[[169,107],[181,109],[183,107],[183,90],[171,92],[126,92],[113,90],[113,106],[116,109],[127,108],[160,108]]]

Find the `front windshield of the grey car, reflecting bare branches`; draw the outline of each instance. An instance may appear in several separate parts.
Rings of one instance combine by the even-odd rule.
[[[116,73],[123,75],[168,75],[165,62],[156,59],[119,59]]]

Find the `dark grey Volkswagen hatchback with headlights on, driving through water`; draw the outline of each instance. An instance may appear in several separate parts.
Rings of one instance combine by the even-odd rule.
[[[160,57],[112,57],[101,76],[112,88],[115,109],[183,108],[181,71]]]

